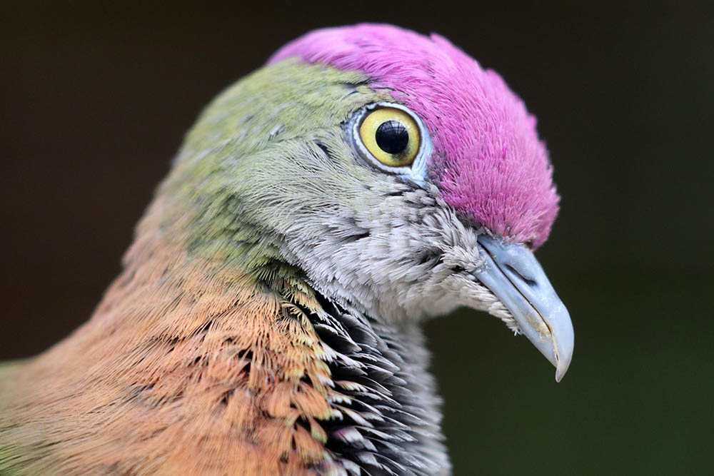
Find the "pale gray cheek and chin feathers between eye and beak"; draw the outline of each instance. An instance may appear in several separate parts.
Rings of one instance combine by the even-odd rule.
[[[395,180],[365,193],[363,203],[296,228],[283,245],[317,290],[382,323],[402,324],[462,305],[510,318],[468,272],[482,264],[478,233],[456,218],[434,187]]]

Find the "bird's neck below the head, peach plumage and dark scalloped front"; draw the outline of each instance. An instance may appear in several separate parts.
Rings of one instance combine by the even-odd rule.
[[[265,474],[448,472],[420,330],[316,293],[251,233],[181,235],[191,214],[167,221],[168,205],[151,206],[91,320],[18,376],[9,405],[24,423],[0,436],[38,474],[137,460],[197,474],[251,461]],[[29,437],[47,421],[54,440]]]

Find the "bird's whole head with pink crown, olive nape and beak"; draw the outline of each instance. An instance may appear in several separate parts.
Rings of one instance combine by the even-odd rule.
[[[162,190],[193,251],[291,267],[381,323],[486,310],[562,376],[572,326],[532,253],[559,200],[535,122],[441,36],[322,29],[206,108]]]

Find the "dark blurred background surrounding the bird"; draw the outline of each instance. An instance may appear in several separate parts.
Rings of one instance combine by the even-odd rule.
[[[575,325],[563,382],[496,318],[427,325],[455,474],[710,474],[711,2],[27,3],[0,14],[0,358],[89,318],[218,91],[305,31],[386,21],[499,71],[562,196],[538,258]]]

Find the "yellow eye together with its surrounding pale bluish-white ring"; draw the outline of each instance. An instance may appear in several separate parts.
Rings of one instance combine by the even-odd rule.
[[[353,116],[348,132],[357,151],[372,166],[423,180],[431,140],[421,119],[406,106],[368,104]]]

